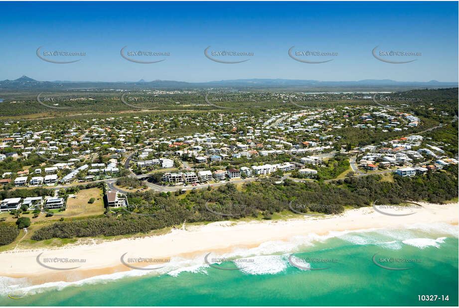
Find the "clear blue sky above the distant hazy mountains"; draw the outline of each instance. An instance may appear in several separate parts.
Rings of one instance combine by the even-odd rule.
[[[244,78],[458,81],[458,2],[0,2],[0,80],[201,82]],[[134,50],[169,56],[120,55]],[[214,58],[211,51],[253,52]],[[337,52],[292,59],[288,50]],[[372,49],[421,52],[377,60]],[[36,55],[85,52],[79,57]],[[295,53],[294,53],[295,54]]]

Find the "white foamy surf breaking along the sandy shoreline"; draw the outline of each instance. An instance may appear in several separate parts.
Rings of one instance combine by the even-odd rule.
[[[402,230],[375,228],[364,230],[331,231],[325,235],[312,233],[306,236],[292,237],[289,241],[268,241],[254,248],[235,247],[230,253],[220,255],[212,253],[212,257],[235,259],[233,262],[245,274],[276,274],[284,271],[289,266],[288,255],[304,251],[304,249],[311,248],[317,243],[322,243],[330,238],[339,238],[355,245],[374,244],[385,249],[396,250],[402,247],[402,243],[418,247],[420,249],[428,246],[439,248],[440,244],[444,243],[444,239],[446,239],[446,237],[442,235],[457,238],[459,234],[458,226],[444,223],[413,224],[404,227],[405,229]],[[417,234],[425,234],[424,236],[426,237],[416,237]],[[430,234],[434,234],[438,237],[436,239],[428,238]],[[172,257],[169,263],[165,264],[163,268],[157,270],[130,270],[109,275],[95,276],[76,282],[61,281],[32,286],[26,279],[0,277],[0,295],[29,295],[49,290],[61,290],[70,286],[101,284],[122,278],[140,277],[145,275],[157,276],[167,274],[169,276],[177,277],[180,273],[184,272],[207,274],[209,266],[204,262],[205,255],[206,254],[198,255],[192,259]],[[247,262],[238,262],[237,260],[237,258],[248,257],[254,259],[252,264]],[[302,264],[302,260],[300,258],[296,258],[294,260],[296,260],[296,264],[298,264],[297,262],[300,262],[300,266],[310,267],[310,265],[306,263]]]

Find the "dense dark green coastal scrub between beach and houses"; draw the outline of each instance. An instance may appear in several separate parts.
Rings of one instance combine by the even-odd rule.
[[[135,192],[130,208],[106,211],[103,217],[66,220],[46,225],[31,237],[51,238],[115,236],[146,233],[187,222],[208,222],[244,217],[269,219],[274,213],[336,214],[345,208],[378,204],[399,204],[406,200],[442,203],[458,196],[458,168],[427,172],[415,178],[394,176],[383,181],[381,175],[350,177],[333,182],[297,183],[275,178],[249,182],[238,189],[226,184],[215,189],[191,190],[183,198],[177,193]]]

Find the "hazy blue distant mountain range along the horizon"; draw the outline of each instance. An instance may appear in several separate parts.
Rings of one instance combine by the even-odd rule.
[[[448,88],[457,87],[458,82],[440,82],[431,80],[419,81],[395,81],[390,79],[373,80],[364,79],[358,81],[319,81],[301,79],[234,79],[220,80],[201,83],[191,83],[173,80],[137,82],[104,82],[104,81],[37,81],[27,76],[15,80],[0,81],[0,90],[76,90],[76,89],[203,89],[203,88],[237,88],[237,89],[289,89],[301,88],[302,90],[334,89],[335,91],[352,91],[371,89],[416,89],[416,88]]]

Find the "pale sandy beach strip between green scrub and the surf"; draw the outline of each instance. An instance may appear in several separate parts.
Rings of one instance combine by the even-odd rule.
[[[238,223],[220,221],[201,226],[185,225],[184,228],[174,229],[165,235],[105,241],[93,245],[70,244],[61,248],[40,250],[16,249],[0,253],[0,276],[26,278],[33,284],[78,281],[103,274],[130,271],[134,267],[161,266],[173,257],[192,258],[208,252],[231,251],[234,247],[257,247],[268,241],[288,241],[295,236],[325,235],[332,231],[369,228],[397,228],[416,223],[458,224],[458,203],[419,204],[422,208],[379,208],[389,214],[411,214],[405,216],[385,215],[372,207],[365,207],[346,210],[340,215],[305,216],[291,220]],[[136,262],[138,260],[134,258],[152,260]],[[73,261],[69,262],[71,259]]]

